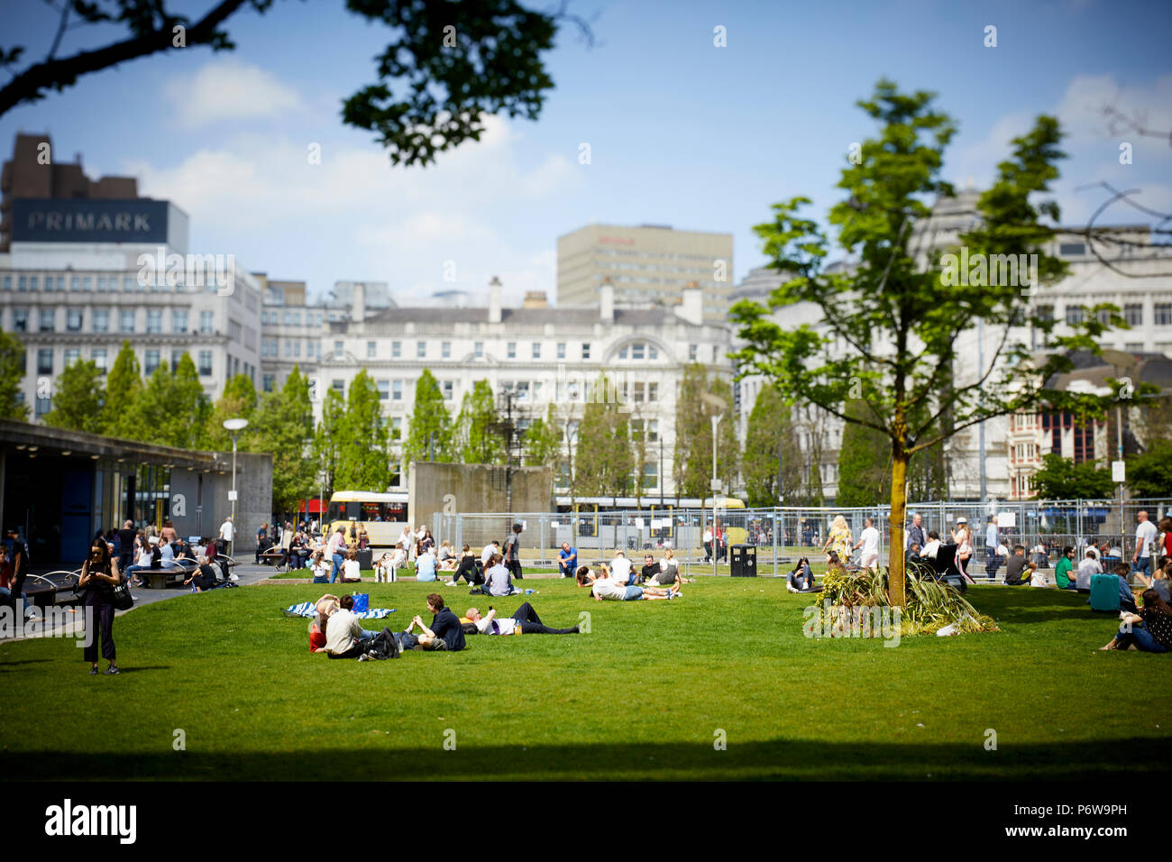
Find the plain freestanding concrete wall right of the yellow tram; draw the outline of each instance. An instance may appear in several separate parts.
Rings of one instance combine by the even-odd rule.
[[[436,513],[449,511],[552,511],[553,470],[516,467],[509,470],[512,505],[504,467],[411,462],[408,511],[413,524],[431,524]]]

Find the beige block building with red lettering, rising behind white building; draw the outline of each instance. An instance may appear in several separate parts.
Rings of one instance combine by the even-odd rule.
[[[684,285],[703,291],[704,319],[728,319],[732,287],[732,235],[645,224],[591,224],[558,237],[558,307],[599,305],[609,280],[627,307],[679,304]]]

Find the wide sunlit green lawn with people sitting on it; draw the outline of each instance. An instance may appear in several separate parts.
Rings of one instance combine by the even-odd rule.
[[[115,623],[118,677],[87,676],[73,640],[5,644],[0,776],[1047,780],[1163,769],[1172,753],[1172,657],[1097,652],[1117,619],[1083,596],[977,586],[1001,632],[892,649],[808,639],[810,599],[781,581],[701,579],[639,603],[524,585],[539,592],[493,603],[527,598],[553,626],[588,611],[591,632],[332,661],[281,613],[325,590],[289,584],[131,611]],[[393,629],[429,620],[435,589],[362,586],[397,609]],[[488,604],[438,590],[458,613]]]

